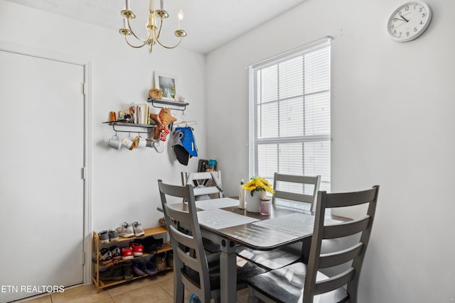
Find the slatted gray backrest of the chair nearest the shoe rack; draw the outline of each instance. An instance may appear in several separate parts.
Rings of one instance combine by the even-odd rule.
[[[174,287],[175,283],[183,282],[191,292],[198,295],[202,302],[210,302],[208,262],[200,234],[193,187],[189,184],[184,187],[164,184],[161,180],[158,180],[158,186],[173,250],[173,270],[176,280]],[[178,204],[180,208],[171,207],[167,202],[168,196],[186,199],[188,204]],[[185,228],[179,226],[185,226]],[[187,254],[188,250],[191,250],[192,253]],[[199,283],[194,282],[194,279],[188,276],[190,271],[188,268],[198,273]],[[193,275],[194,272],[191,274]],[[181,297],[183,293],[175,295]],[[175,302],[183,302],[183,297],[176,298]]]

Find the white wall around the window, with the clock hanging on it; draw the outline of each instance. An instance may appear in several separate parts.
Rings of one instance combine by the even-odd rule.
[[[245,67],[333,36],[332,192],[381,186],[359,302],[455,299],[455,3],[427,3],[432,23],[410,43],[386,31],[402,2],[308,0],[206,59],[208,153],[237,194],[249,177]]]

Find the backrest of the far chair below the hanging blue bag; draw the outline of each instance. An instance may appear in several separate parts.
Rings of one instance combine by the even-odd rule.
[[[182,185],[191,184],[196,200],[210,199],[209,194],[223,198],[221,172],[181,172]]]

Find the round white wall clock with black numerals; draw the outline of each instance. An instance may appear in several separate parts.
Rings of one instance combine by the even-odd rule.
[[[387,29],[393,40],[407,42],[422,35],[431,20],[432,10],[427,4],[409,2],[392,13]]]

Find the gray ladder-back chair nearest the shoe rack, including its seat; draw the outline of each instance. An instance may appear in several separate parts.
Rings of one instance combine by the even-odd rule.
[[[185,287],[201,302],[220,298],[220,253],[204,250],[193,187],[164,184],[158,180],[161,204],[173,250],[174,302],[183,303]],[[186,198],[188,204],[168,204],[168,198]],[[171,198],[173,199],[173,198]],[[184,228],[182,228],[184,227]],[[191,253],[188,251],[191,250]],[[245,289],[246,278],[265,272],[257,265],[237,263],[237,290]],[[189,294],[188,294],[189,295]]]

